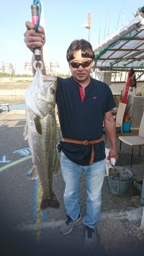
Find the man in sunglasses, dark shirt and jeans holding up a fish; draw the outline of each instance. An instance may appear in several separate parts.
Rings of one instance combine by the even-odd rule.
[[[31,22],[26,22],[26,27],[24,42],[34,53],[36,47],[42,48],[45,44],[45,32],[42,27],[35,32],[35,25]],[[72,76],[67,79],[58,77],[56,92],[63,137],[60,165],[66,183],[63,198],[67,213],[60,231],[68,234],[81,219],[78,182],[83,169],[87,193],[84,245],[93,250],[97,242],[96,224],[100,218],[105,174],[103,122],[111,145],[109,159],[113,157],[117,161],[116,128],[111,112],[115,104],[109,86],[90,77],[94,51],[88,41],[74,40],[66,58]],[[35,56],[32,61],[35,61]],[[45,74],[45,68],[42,72]]]

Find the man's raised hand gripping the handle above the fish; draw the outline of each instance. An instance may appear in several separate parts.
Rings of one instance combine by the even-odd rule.
[[[35,32],[35,25],[32,22],[25,22],[27,27],[26,32],[24,32],[24,43],[27,45],[32,53],[34,53],[35,48],[43,47],[45,45],[45,31],[43,27],[39,27],[38,31]]]

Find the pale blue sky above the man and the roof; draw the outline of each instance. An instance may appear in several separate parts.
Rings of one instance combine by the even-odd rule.
[[[0,0],[1,1],[1,0]],[[68,69],[66,50],[72,40],[84,38],[93,48],[134,18],[143,0],[42,0],[46,25],[48,62],[59,62]],[[10,62],[17,70],[25,61],[31,61],[32,53],[24,44],[25,21],[31,21],[32,0],[1,1],[2,61]],[[84,28],[91,13],[91,29]]]

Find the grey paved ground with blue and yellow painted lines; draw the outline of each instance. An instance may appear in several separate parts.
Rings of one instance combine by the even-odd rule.
[[[40,211],[40,184],[29,180],[32,167],[27,141],[24,141],[23,110],[0,113],[0,244],[1,255],[144,255],[144,234],[140,229],[143,206],[140,191],[133,185],[124,196],[113,195],[107,177],[102,189],[102,218],[97,226],[99,242],[93,252],[84,250],[82,220],[73,231],[63,236],[60,224],[66,216],[63,206],[64,184],[61,173],[54,175],[53,189],[60,209]],[[125,135],[133,133],[125,133]],[[135,133],[136,134],[136,133]],[[109,141],[106,146],[109,148]],[[117,140],[119,148],[119,141]],[[122,146],[117,166],[127,167],[133,177],[143,176],[144,148],[141,156],[135,149],[130,168],[130,147]],[[85,179],[79,187],[81,214],[85,215]]]

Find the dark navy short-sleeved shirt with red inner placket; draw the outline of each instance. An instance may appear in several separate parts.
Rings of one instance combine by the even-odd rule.
[[[102,137],[104,113],[115,107],[112,91],[107,84],[91,78],[83,88],[73,76],[57,79],[56,103],[63,138],[93,141]],[[89,165],[91,145],[84,146],[60,141],[60,146],[71,161]],[[105,158],[104,141],[94,144],[94,162]]]

